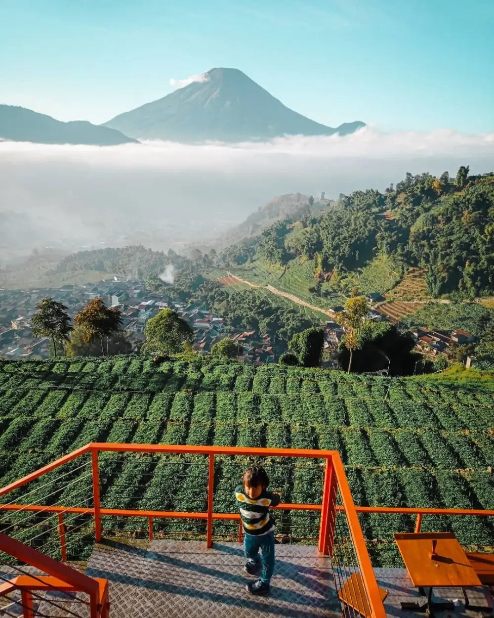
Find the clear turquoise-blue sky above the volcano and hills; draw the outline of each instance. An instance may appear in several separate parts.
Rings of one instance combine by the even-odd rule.
[[[0,0],[0,103],[104,122],[236,67],[312,119],[494,130],[494,0]]]

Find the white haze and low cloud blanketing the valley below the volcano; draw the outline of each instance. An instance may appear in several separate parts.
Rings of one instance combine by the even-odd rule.
[[[219,237],[281,193],[336,198],[383,190],[407,171],[492,169],[494,133],[278,138],[269,143],[170,142],[110,147],[0,143],[3,261],[33,248],[143,243],[166,250]]]

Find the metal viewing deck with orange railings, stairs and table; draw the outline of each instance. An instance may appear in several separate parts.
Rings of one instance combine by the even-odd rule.
[[[116,457],[109,457],[112,453]],[[229,457],[242,458],[242,467],[246,457],[264,458],[273,470],[283,465],[280,459],[292,459],[299,462],[298,473],[316,470],[315,482],[322,485],[318,504],[283,502],[275,507],[282,542],[276,546],[275,573],[267,596],[252,596],[245,590],[249,578],[243,572],[240,515],[215,509],[215,495],[224,491],[222,476],[226,475],[228,485],[235,478],[235,468],[227,466],[228,462],[231,466]],[[177,462],[199,471],[198,487],[186,488],[186,503],[202,488],[204,510],[118,507],[122,492],[135,491],[132,479],[143,465],[147,470],[155,467],[151,476],[159,487],[164,478],[169,483],[177,478],[175,487],[183,489],[183,468],[177,468]],[[109,467],[120,463],[131,464],[132,475],[112,494],[113,504],[103,506],[101,488],[107,491]],[[169,475],[157,476],[156,468],[164,468]],[[156,495],[151,504],[165,506],[161,494]],[[91,442],[1,488],[0,497],[0,551],[4,552],[0,618],[414,618],[425,609],[430,616],[445,617],[492,611],[491,548],[477,544],[473,553],[466,554],[472,551],[472,543],[463,542],[463,549],[444,528],[453,517],[489,522],[494,511],[355,506],[337,451]],[[300,512],[314,514],[316,525],[305,519],[302,526],[297,520]],[[290,517],[283,519],[287,513]],[[400,523],[404,520],[396,519],[398,514],[416,517],[408,520],[413,533]],[[364,537],[359,517],[366,523],[373,515],[385,520],[395,517],[390,520],[396,523],[394,530],[398,528],[394,540],[400,541],[401,564],[406,569],[372,564],[375,541]],[[422,519],[429,524],[433,517],[437,518],[435,530],[421,531]],[[168,522],[179,525],[173,528]],[[283,522],[285,527],[291,523],[298,536],[285,534]],[[388,543],[386,551],[395,548],[394,541],[383,543]],[[404,554],[403,543],[408,547]],[[432,554],[427,554],[427,543],[432,543]],[[435,552],[436,544],[440,553]],[[409,559],[416,557],[419,547],[425,552],[424,561],[437,561],[433,564],[437,570],[423,569],[422,557]],[[80,562],[87,560],[87,564]],[[425,588],[430,593],[424,601]],[[446,601],[449,609],[443,612]]]

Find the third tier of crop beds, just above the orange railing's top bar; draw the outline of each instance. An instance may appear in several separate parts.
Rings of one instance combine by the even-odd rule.
[[[219,414],[211,417],[209,397],[204,393],[192,407],[190,393],[175,397],[169,420],[137,421],[133,418],[19,417],[1,423],[0,454],[4,475],[22,476],[30,470],[17,468],[17,457],[43,453],[58,457],[88,442],[133,442],[138,444],[211,444],[268,448],[329,449],[340,452],[343,463],[362,467],[422,467],[441,470],[487,470],[494,461],[494,439],[487,432],[461,433],[440,430],[385,430],[332,428],[328,425],[232,421],[228,394],[219,400]],[[230,394],[230,397],[233,395]],[[114,402],[118,404],[118,402]],[[198,403],[198,402],[196,402]],[[252,405],[253,400],[245,404]],[[224,407],[222,407],[224,406]],[[226,413],[222,415],[222,410]],[[208,415],[209,414],[209,418]],[[22,462],[22,459],[19,460]],[[2,467],[0,465],[0,472]],[[15,478],[15,476],[14,476]],[[0,485],[7,481],[0,478]]]

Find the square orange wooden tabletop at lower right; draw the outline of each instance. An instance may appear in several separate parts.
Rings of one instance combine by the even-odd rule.
[[[446,588],[482,585],[452,533],[395,533],[393,536],[414,586]],[[431,559],[429,553],[433,540],[437,540],[437,557]]]

